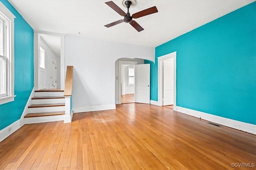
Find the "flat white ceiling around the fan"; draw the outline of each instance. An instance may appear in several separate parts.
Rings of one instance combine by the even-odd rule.
[[[158,13],[134,19],[144,28],[141,32],[128,23],[104,27],[123,19],[104,3],[107,1],[9,0],[34,30],[149,47],[161,45],[255,0],[136,0],[130,14],[152,6],[158,9]],[[127,12],[122,0],[113,2]]]

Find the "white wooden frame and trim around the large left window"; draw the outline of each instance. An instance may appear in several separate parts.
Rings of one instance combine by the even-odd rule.
[[[6,95],[0,97],[0,105],[14,101],[14,18],[2,2],[0,2],[0,15],[4,18],[4,56],[6,58]]]

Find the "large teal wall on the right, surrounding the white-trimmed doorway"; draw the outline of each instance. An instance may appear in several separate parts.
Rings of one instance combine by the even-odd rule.
[[[177,51],[177,106],[256,125],[256,2],[156,47]],[[151,72],[152,73],[152,72]]]

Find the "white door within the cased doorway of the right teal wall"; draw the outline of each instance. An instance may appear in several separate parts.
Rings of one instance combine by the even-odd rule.
[[[174,59],[163,61],[163,105],[174,103]]]

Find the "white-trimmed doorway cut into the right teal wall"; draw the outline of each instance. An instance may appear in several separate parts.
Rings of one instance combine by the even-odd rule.
[[[176,52],[158,57],[158,104],[176,110]]]

